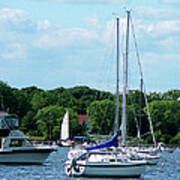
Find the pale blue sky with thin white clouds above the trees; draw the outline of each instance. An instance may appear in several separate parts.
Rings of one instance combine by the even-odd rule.
[[[119,17],[122,88],[130,10],[129,89],[140,86],[133,32],[147,91],[179,89],[179,9],[179,0],[1,0],[0,80],[19,89],[115,91]]]

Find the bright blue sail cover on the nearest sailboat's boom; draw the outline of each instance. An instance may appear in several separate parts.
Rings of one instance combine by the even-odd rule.
[[[105,142],[104,144],[99,144],[97,146],[91,146],[86,148],[86,150],[91,151],[94,149],[102,149],[102,148],[108,148],[108,147],[118,147],[118,133],[116,132],[113,136],[113,138],[107,142]]]

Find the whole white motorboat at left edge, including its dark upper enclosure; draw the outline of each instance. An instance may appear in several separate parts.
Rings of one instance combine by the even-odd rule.
[[[56,146],[34,145],[21,131],[16,115],[0,113],[0,164],[42,164]]]

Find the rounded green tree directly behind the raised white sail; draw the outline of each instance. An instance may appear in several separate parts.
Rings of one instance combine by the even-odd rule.
[[[81,132],[78,115],[69,110],[70,119],[70,136],[73,137]],[[60,127],[66,112],[66,108],[62,106],[47,106],[38,111],[35,118],[37,120],[38,131],[45,139],[58,139],[60,134]]]

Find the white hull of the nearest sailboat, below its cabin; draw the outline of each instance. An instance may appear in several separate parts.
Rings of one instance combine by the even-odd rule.
[[[146,168],[146,162],[77,162],[72,168],[71,162],[66,163],[65,171],[68,176],[87,177],[140,177]]]

